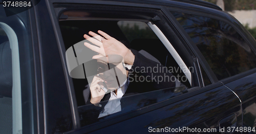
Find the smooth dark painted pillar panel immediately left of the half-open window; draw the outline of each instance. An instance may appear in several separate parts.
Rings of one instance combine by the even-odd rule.
[[[41,1],[35,9],[38,36],[42,103],[44,124],[40,131],[45,133],[63,132],[73,128],[70,100],[53,25],[46,2]]]

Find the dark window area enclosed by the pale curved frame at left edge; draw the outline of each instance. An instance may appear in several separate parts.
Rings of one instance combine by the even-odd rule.
[[[5,31],[0,28],[0,51],[1,63],[9,59],[11,61],[11,48]],[[4,55],[3,55],[4,54]],[[8,61],[9,61],[8,60]],[[3,66],[4,64],[4,66]],[[11,62],[2,63],[1,69],[1,90],[0,90],[0,133],[12,133],[12,67]],[[9,92],[7,92],[9,91]]]

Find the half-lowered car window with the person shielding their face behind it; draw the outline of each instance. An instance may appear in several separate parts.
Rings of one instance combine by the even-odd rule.
[[[85,18],[76,18],[77,14],[82,13],[88,16]],[[94,16],[90,16],[90,14]],[[64,17],[65,19],[61,19],[63,15],[66,15]],[[95,16],[94,13],[88,13],[86,11],[68,10],[63,12],[59,19],[59,26],[66,47],[67,65],[70,76],[73,79],[81,126],[113,118],[117,115],[135,111],[186,93],[186,88],[190,87],[186,75],[182,71],[172,74],[175,70],[179,70],[180,67],[172,55],[170,55],[165,44],[162,43],[155,32],[148,26],[148,20],[143,17],[135,19],[133,15],[130,18],[118,18],[120,14],[117,13],[113,13],[110,18],[108,18],[108,15],[104,16],[103,13],[100,13],[100,16]],[[152,25],[152,23],[150,24]],[[125,68],[129,70],[129,77],[125,79],[123,86],[119,86],[123,90],[123,96],[112,99],[112,96],[118,95],[118,90],[117,94],[115,94],[114,91],[110,92],[106,89],[106,93],[99,105],[94,105],[90,102],[92,98],[90,84],[93,83],[93,78],[98,75],[97,73],[101,72],[99,70],[104,69],[94,66],[94,64],[99,64],[97,61],[92,60],[92,56],[97,55],[97,53],[90,52],[90,49],[84,46],[84,42],[88,42],[88,40],[85,40],[83,35],[88,35],[89,31],[97,33],[98,30],[109,34],[111,37],[123,43],[127,48],[137,53],[134,55],[141,57],[141,66],[139,66],[141,67],[141,72],[137,72],[136,70],[131,71]],[[92,53],[91,57],[88,56],[88,53]],[[154,66],[154,69],[154,67],[144,64],[154,64],[156,66]],[[109,69],[114,69],[115,66],[118,65],[113,65],[112,67],[112,64],[110,64]],[[106,66],[106,68],[108,67]],[[147,72],[150,72],[151,75],[143,76],[141,74]],[[153,76],[158,73],[163,75]],[[119,77],[118,74],[116,77]],[[176,77],[181,79],[181,81],[179,82]],[[100,92],[104,88],[109,88],[107,83],[108,81],[102,84],[103,88],[100,89]],[[113,105],[117,105],[114,110],[112,109]]]

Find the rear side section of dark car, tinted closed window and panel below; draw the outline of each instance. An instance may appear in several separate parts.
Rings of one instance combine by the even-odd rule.
[[[255,40],[228,14],[217,12],[217,17],[216,12],[211,15],[186,11],[171,12],[197,44],[218,80],[239,97],[243,107],[243,127],[233,131],[254,132],[253,77],[256,57],[255,46],[252,44]],[[224,16],[228,19],[223,19]]]

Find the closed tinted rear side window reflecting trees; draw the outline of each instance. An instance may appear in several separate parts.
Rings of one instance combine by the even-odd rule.
[[[230,24],[193,14],[172,14],[219,80],[256,67],[255,53]]]

